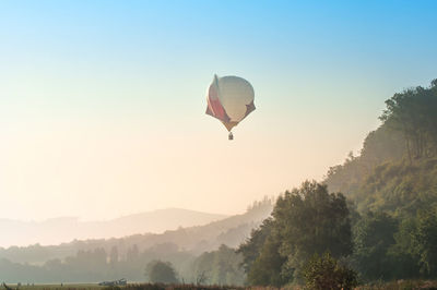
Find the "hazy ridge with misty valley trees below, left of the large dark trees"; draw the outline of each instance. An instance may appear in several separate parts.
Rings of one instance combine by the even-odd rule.
[[[59,245],[0,247],[0,281],[9,283],[180,281],[240,285],[245,273],[235,247],[270,216],[273,200],[253,202],[247,212],[204,226],[120,239],[74,240]],[[146,275],[169,264],[175,277]],[[158,278],[156,278],[158,277]],[[160,278],[161,277],[161,278]]]

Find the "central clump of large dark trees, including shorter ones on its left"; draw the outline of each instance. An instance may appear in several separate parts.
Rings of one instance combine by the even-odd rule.
[[[351,221],[345,197],[329,194],[315,181],[285,192],[267,220],[240,246],[250,285],[282,286],[293,281],[314,253],[335,257],[352,253]]]

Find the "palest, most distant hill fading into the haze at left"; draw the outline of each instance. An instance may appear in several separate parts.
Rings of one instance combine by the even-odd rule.
[[[0,219],[1,245],[59,244],[72,240],[120,238],[135,233],[162,233],[178,227],[192,227],[225,218],[181,208],[167,208],[105,221],[54,218],[44,221]]]

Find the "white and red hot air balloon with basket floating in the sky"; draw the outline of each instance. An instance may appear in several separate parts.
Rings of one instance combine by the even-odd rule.
[[[253,97],[253,87],[245,78],[214,75],[208,89],[206,113],[218,119],[233,140],[232,129],[255,110]]]

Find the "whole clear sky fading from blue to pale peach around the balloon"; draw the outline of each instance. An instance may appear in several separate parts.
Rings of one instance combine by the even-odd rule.
[[[437,78],[436,1],[0,1],[0,218],[240,214]],[[214,73],[255,88],[234,130]]]

